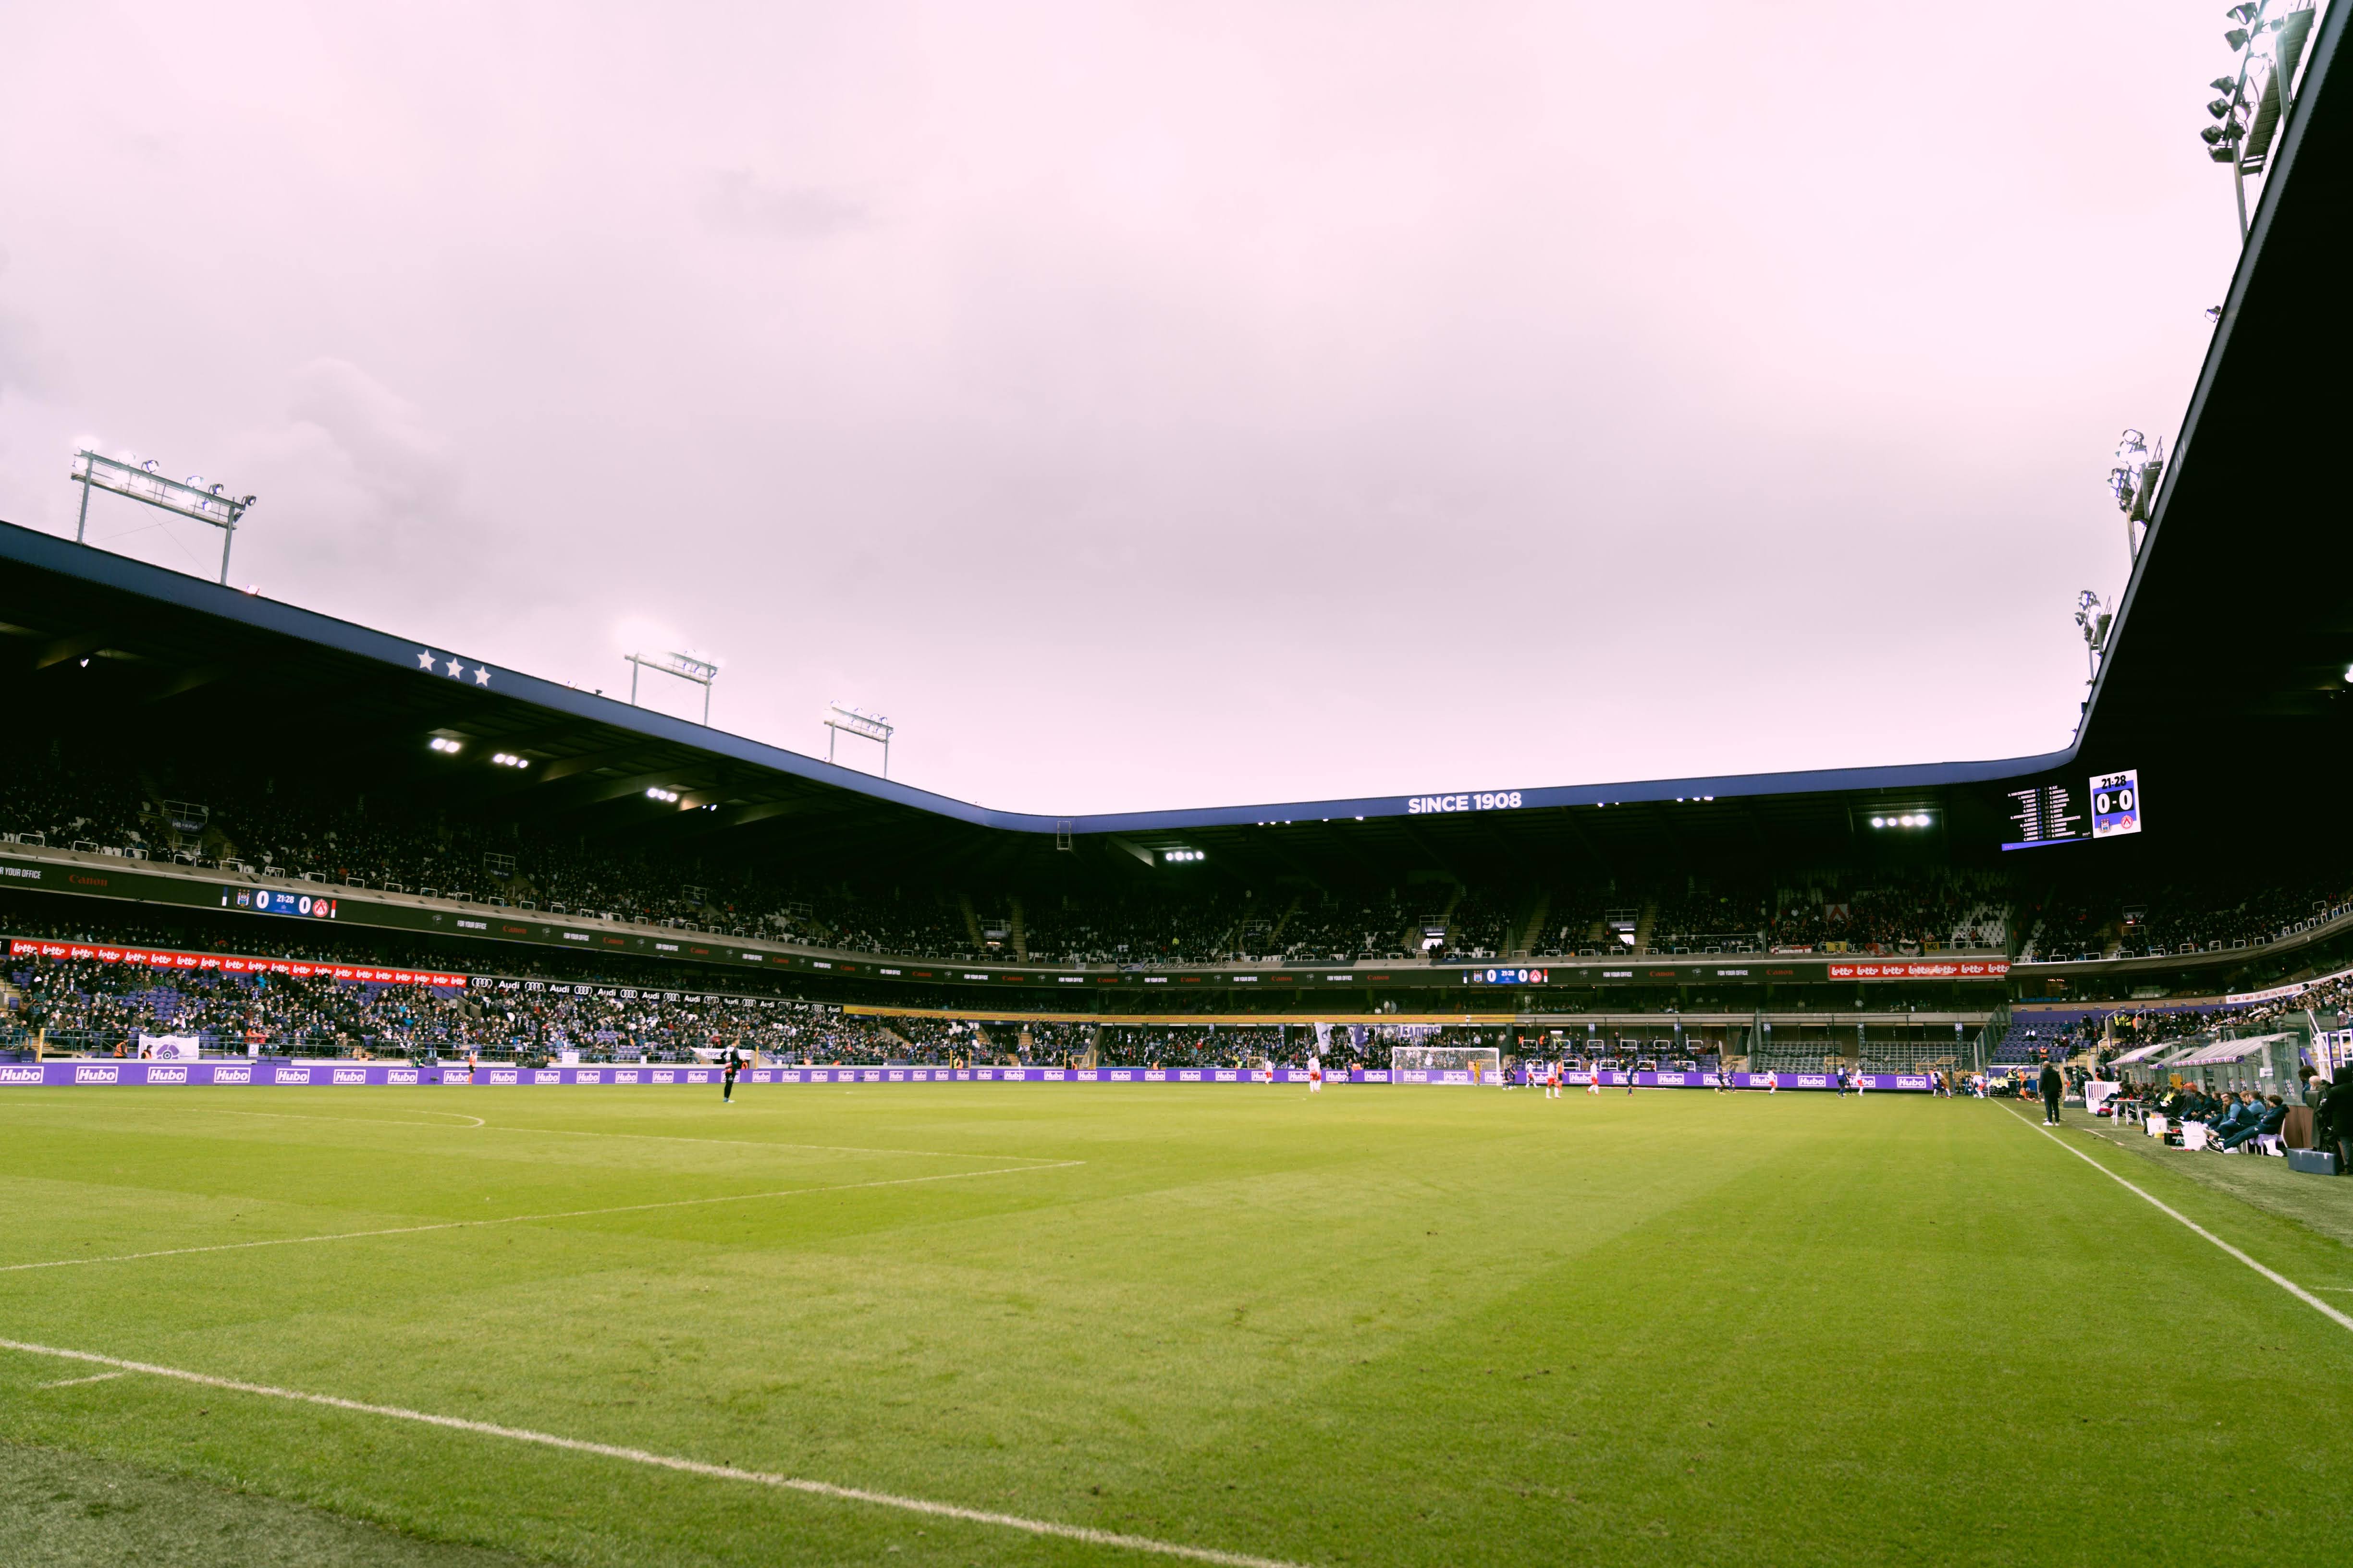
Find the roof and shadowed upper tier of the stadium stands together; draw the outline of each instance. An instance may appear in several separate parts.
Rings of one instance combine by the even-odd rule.
[[[2346,336],[2337,31],[2064,750],[1059,818],[0,524],[0,931],[908,1018],[1633,1027],[1694,1056],[1769,1025],[1984,1056],[2026,1004],[2344,969],[2353,543],[2315,374]]]

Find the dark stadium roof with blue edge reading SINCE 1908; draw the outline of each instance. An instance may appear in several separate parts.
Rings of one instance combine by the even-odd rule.
[[[991,860],[1002,870],[1064,839],[1111,860],[1151,863],[1191,846],[1235,870],[1341,879],[1393,875],[1400,860],[1452,872],[1532,856],[1614,872],[1701,853],[1835,853],[1857,844],[1859,813],[1875,809],[1932,811],[1955,839],[1991,849],[2000,837],[1991,785],[2085,766],[2148,773],[2160,762],[2174,769],[2167,809],[2186,823],[2193,802],[2221,788],[2221,759],[2245,764],[2249,736],[2329,764],[2346,750],[2353,599],[2339,585],[2353,576],[2353,536],[2339,522],[2334,465],[2318,456],[2339,435],[2344,402],[2337,195],[2353,179],[2353,103],[2327,82],[2341,31],[2337,7],[2273,160],[2085,724],[2059,752],[1572,785],[1475,780],[1501,790],[1440,776],[1419,797],[1056,818],[948,799],[12,524],[0,524],[0,632],[19,649],[19,679],[113,724],[136,715],[216,736],[224,715],[242,712],[261,719],[254,733],[282,736],[299,717],[306,741],[285,766],[367,766],[487,811],[579,813],[598,830],[758,830],[729,842],[791,844],[795,856],[873,872]],[[1871,696],[1908,693],[1897,684]],[[473,759],[506,750],[534,766],[466,769],[459,783],[426,752],[424,738],[440,731],[464,736]],[[647,802],[647,788],[678,802]]]

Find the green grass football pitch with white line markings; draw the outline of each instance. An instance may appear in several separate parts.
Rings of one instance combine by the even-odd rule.
[[[2212,1563],[2348,1526],[2353,1331],[2313,1302],[2353,1251],[1988,1103],[35,1088],[0,1199],[9,1561]]]

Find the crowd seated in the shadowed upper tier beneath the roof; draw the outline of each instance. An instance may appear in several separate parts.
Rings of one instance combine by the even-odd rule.
[[[193,809],[167,797],[193,802]],[[2148,893],[2068,889],[2017,900],[1991,872],[1882,875],[1871,886],[1819,875],[1805,886],[1722,882],[1642,896],[1614,886],[1534,889],[1426,884],[1388,889],[1238,889],[1188,884],[1155,893],[984,891],[795,877],[788,865],[694,851],[661,853],[518,823],[461,823],[395,795],[334,795],[308,778],[228,778],[75,766],[52,743],[0,745],[0,827],[49,846],[92,844],[245,865],[346,889],[438,893],[562,914],[666,922],[696,931],[925,959],[1191,966],[1242,957],[1299,964],[1433,957],[1534,957],[1621,950],[1605,929],[1642,907],[1649,952],[1925,952],[2005,950],[2028,957],[2153,954],[2278,940],[2346,907],[2339,879],[2301,875],[2209,879]],[[1426,929],[1445,914],[1445,938]]]

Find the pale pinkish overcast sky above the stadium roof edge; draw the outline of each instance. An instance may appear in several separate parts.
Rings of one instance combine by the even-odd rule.
[[[2042,752],[2224,26],[19,5],[0,517],[1028,811]]]

